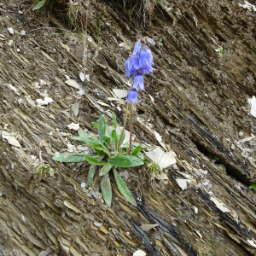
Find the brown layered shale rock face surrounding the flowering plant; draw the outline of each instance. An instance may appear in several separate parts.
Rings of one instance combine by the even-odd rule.
[[[49,2],[38,11],[27,1],[0,3],[0,254],[255,255],[255,7]],[[95,133],[90,123],[111,112],[122,125],[125,105],[112,90],[129,90],[124,63],[139,35],[157,42],[157,71],[145,76],[136,140],[164,144],[177,163],[161,185],[147,166],[125,170],[137,207],[113,184],[108,208],[97,183],[88,187],[87,163],[51,158],[81,149],[67,125]],[[60,172],[35,176],[40,163]]]

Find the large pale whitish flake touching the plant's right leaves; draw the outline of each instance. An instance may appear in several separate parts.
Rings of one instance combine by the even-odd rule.
[[[176,164],[176,154],[173,151],[164,152],[161,148],[157,147],[154,150],[145,152],[145,154],[160,166],[160,169]]]

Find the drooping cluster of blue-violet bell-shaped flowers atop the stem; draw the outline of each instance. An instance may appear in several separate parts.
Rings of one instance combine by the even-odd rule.
[[[142,44],[142,40],[144,44]],[[132,89],[128,92],[125,102],[139,102],[137,92],[138,90],[144,90],[143,74],[149,72],[153,73],[155,70],[155,68],[152,67],[152,65],[154,65],[152,53],[146,41],[150,44],[155,44],[154,40],[151,38],[140,38],[134,46],[132,55],[125,61],[125,77],[132,77],[133,79]]]

